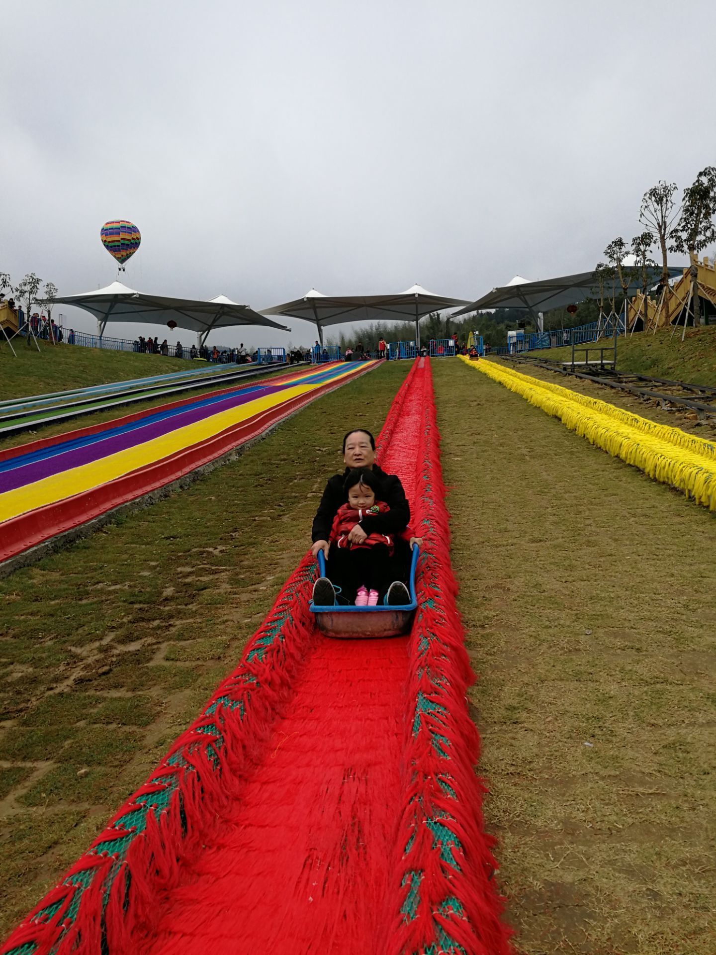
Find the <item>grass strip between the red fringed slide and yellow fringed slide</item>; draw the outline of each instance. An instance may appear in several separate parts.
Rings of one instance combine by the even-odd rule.
[[[480,771],[524,955],[710,955],[714,515],[433,362]]]

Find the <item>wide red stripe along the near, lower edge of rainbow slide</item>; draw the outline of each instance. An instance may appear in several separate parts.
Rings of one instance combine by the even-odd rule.
[[[179,477],[221,457],[227,451],[263,434],[271,425],[290,414],[295,414],[315,398],[340,388],[348,381],[354,381],[358,375],[366,374],[376,367],[377,365],[370,365],[347,379],[329,382],[321,388],[284,402],[278,408],[255,414],[207,441],[162,458],[156,464],[138,468],[137,471],[117,477],[116,480],[108,481],[91,491],[47,504],[45,507],[38,507],[27,514],[4,521],[0,524],[0,563],[42,541],[49,541],[57,534],[94,520],[121,504],[141,498],[145,494],[164,487],[165,484],[178,480]]]

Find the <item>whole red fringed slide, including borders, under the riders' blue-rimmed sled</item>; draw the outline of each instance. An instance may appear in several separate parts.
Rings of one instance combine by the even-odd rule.
[[[429,362],[397,393],[378,452],[425,540],[410,637],[319,634],[306,557],[239,668],[4,955],[509,951]]]

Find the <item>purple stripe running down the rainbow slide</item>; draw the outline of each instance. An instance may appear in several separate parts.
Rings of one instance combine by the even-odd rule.
[[[188,424],[195,424],[197,421],[211,417],[213,414],[219,414],[231,408],[238,408],[240,405],[246,404],[248,401],[253,401],[255,398],[263,397],[265,394],[284,391],[290,387],[291,384],[293,383],[266,385],[261,391],[235,395],[232,398],[226,398],[224,401],[218,401],[216,404],[205,405],[202,408],[196,408],[184,414],[175,414],[172,417],[155,421],[154,424],[147,425],[144,428],[137,428],[123,435],[115,435],[105,440],[99,438],[93,444],[85,445],[82,448],[75,448],[74,451],[47,457],[41,461],[27,464],[24,467],[7,471],[0,474],[0,494],[4,494],[6,491],[14,491],[16,488],[23,487],[25,484],[32,484],[34,481],[42,480],[44,477],[51,477],[62,471],[78,468],[82,464],[90,464],[102,457],[115,455],[119,451],[127,451],[127,449],[137,444],[151,441],[155,437],[168,435],[178,428],[183,428]]]

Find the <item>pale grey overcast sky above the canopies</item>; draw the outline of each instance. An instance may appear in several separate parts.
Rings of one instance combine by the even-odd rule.
[[[716,164],[713,0],[6,0],[2,27],[0,271],[61,294],[114,281],[122,218],[144,291],[473,300],[593,267]],[[315,337],[286,324],[216,340]]]

